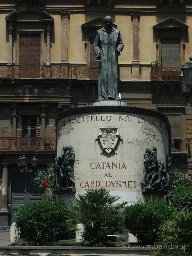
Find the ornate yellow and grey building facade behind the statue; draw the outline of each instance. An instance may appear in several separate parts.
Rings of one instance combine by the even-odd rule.
[[[35,155],[39,167],[55,158],[55,115],[97,101],[93,42],[110,15],[120,29],[120,92],[129,106],[168,116],[173,167],[192,174],[192,111],[179,78],[191,56],[191,0],[0,0],[0,226],[21,204],[43,197],[33,173],[17,158]],[[150,62],[159,60],[158,67]]]

